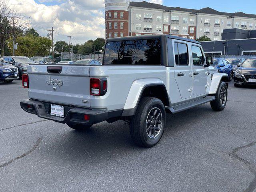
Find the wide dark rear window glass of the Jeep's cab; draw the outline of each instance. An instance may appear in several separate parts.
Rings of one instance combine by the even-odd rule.
[[[160,65],[160,40],[128,40],[108,42],[103,64]]]

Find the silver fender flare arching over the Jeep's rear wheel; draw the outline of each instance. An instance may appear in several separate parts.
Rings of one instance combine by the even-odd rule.
[[[158,85],[164,86],[164,88],[166,89],[164,82],[157,78],[146,78],[146,79],[135,80],[132,83],[132,86],[126,98],[122,116],[133,116],[136,112],[138,103],[140,101],[140,98],[144,89],[149,86],[158,86]]]

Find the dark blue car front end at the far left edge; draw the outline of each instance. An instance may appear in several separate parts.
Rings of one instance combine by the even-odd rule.
[[[18,68],[8,64],[0,62],[0,81],[10,83],[14,79],[18,79]]]

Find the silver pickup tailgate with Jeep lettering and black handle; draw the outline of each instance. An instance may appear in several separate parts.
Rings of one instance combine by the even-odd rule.
[[[29,98],[90,107],[90,66],[29,65]]]

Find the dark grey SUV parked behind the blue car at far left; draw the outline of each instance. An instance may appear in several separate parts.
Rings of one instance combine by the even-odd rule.
[[[34,62],[28,57],[21,56],[4,56],[2,62],[9,63],[17,67],[19,70],[20,79],[22,78],[22,74],[27,73],[28,65],[34,64]]]

